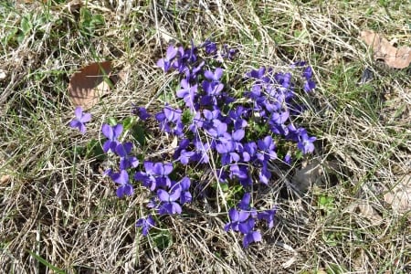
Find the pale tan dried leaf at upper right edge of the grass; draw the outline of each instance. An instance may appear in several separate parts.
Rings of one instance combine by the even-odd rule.
[[[373,47],[374,58],[385,60],[389,67],[407,68],[411,63],[411,47],[396,48],[385,37],[369,30],[362,31],[361,38],[365,44]]]

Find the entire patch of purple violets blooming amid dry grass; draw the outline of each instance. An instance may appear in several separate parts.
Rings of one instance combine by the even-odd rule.
[[[236,49],[227,45],[218,48],[207,40],[199,47],[193,42],[187,48],[171,45],[165,57],[157,61],[163,72],[174,70],[179,75],[177,102],[166,103],[153,115],[160,131],[174,135],[178,141],[173,159],[168,162],[144,159],[139,163],[132,155],[133,143],[120,141],[122,125],[102,126],[107,138],[103,151],[118,157],[118,167],[106,172],[120,184],[117,195],[133,194],[130,177],[153,195],[147,205],[153,214],[136,223],[142,227],[142,235],[155,226],[154,216],[181,214],[182,206],[193,200],[195,185],[207,184],[201,182],[204,176],[183,174],[185,166],[200,168],[201,173],[213,163],[217,184],[237,184],[245,193],[237,206],[228,210],[229,222],[224,229],[242,233],[243,246],[247,248],[261,240],[258,222],[266,221],[267,227],[273,227],[276,213],[276,208],[251,207],[252,185],[272,181],[270,163],[290,164],[298,151],[314,151],[316,138],[295,122],[304,109],[296,93],[311,92],[316,86],[312,68],[298,62],[290,66],[290,71],[253,69],[234,89],[228,84],[226,62],[233,61],[236,55]],[[132,113],[142,122],[152,117],[142,107],[133,106]],[[83,122],[79,117],[80,129]],[[179,176],[180,180],[174,180]]]

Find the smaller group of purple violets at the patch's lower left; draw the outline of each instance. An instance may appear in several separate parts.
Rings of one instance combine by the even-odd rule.
[[[139,108],[137,115],[142,115],[148,118],[148,113],[144,108]],[[111,180],[120,184],[117,188],[117,196],[119,198],[125,195],[133,195],[134,188],[132,186],[129,173],[139,166],[139,161],[133,156],[132,142],[120,142],[119,138],[123,131],[121,124],[111,126],[103,124],[101,132],[107,138],[102,145],[105,153],[114,153],[118,156],[118,172],[112,169],[106,171],[106,174],[111,177]],[[174,215],[182,213],[182,205],[190,203],[192,195],[190,193],[191,181],[188,177],[184,177],[179,182],[172,180],[169,175],[173,172],[172,163],[153,163],[144,161],[144,170],[134,172],[132,179],[136,182],[141,182],[143,186],[152,191],[153,197],[150,207],[152,207],[159,215]],[[147,235],[151,227],[155,226],[153,216],[139,219],[136,223],[137,227],[142,227],[142,234]]]

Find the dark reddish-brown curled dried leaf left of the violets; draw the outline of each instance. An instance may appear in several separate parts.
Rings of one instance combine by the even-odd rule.
[[[75,106],[90,109],[110,89],[111,62],[92,63],[74,73],[68,83],[68,97]],[[105,78],[106,76],[106,78]],[[105,79],[104,79],[105,78]]]

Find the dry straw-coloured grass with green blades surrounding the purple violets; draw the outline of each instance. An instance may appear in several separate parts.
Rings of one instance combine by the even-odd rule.
[[[4,273],[53,272],[50,265],[67,273],[411,272],[410,211],[384,200],[411,173],[410,70],[375,63],[357,39],[371,28],[409,44],[407,1],[88,1],[90,13],[105,21],[91,34],[78,11],[57,1],[47,8],[8,2],[0,4]],[[25,17],[32,27],[23,33]],[[127,117],[131,102],[160,106],[171,77],[155,61],[169,38],[192,37],[238,47],[233,73],[306,59],[319,83],[305,99],[310,110],[303,122],[321,137],[314,158],[323,167],[322,184],[298,193],[290,187],[293,171],[279,175],[256,198],[279,206],[277,225],[248,249],[223,231],[226,214],[201,201],[167,218],[163,238],[142,237],[134,224],[145,214],[145,190],[119,200],[101,175],[103,163],[79,150],[99,138],[108,117]],[[68,76],[103,59],[128,68],[129,77],[92,109],[93,123],[80,136],[68,128]],[[365,67],[374,79],[359,85]],[[155,134],[147,153],[171,142]],[[329,203],[321,205],[321,197]],[[373,214],[358,210],[364,202]]]

